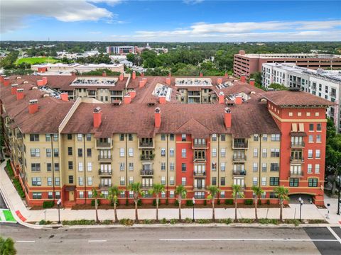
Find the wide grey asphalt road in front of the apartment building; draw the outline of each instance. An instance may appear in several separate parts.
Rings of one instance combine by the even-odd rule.
[[[0,225],[18,254],[340,254],[340,227],[28,229]]]

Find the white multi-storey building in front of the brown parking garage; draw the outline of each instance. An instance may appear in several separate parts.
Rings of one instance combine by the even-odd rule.
[[[335,106],[328,108],[327,115],[334,121],[337,132],[341,133],[341,71],[314,70],[298,67],[295,64],[269,63],[263,64],[262,79],[263,86],[266,88],[272,83],[277,83],[334,102]]]

